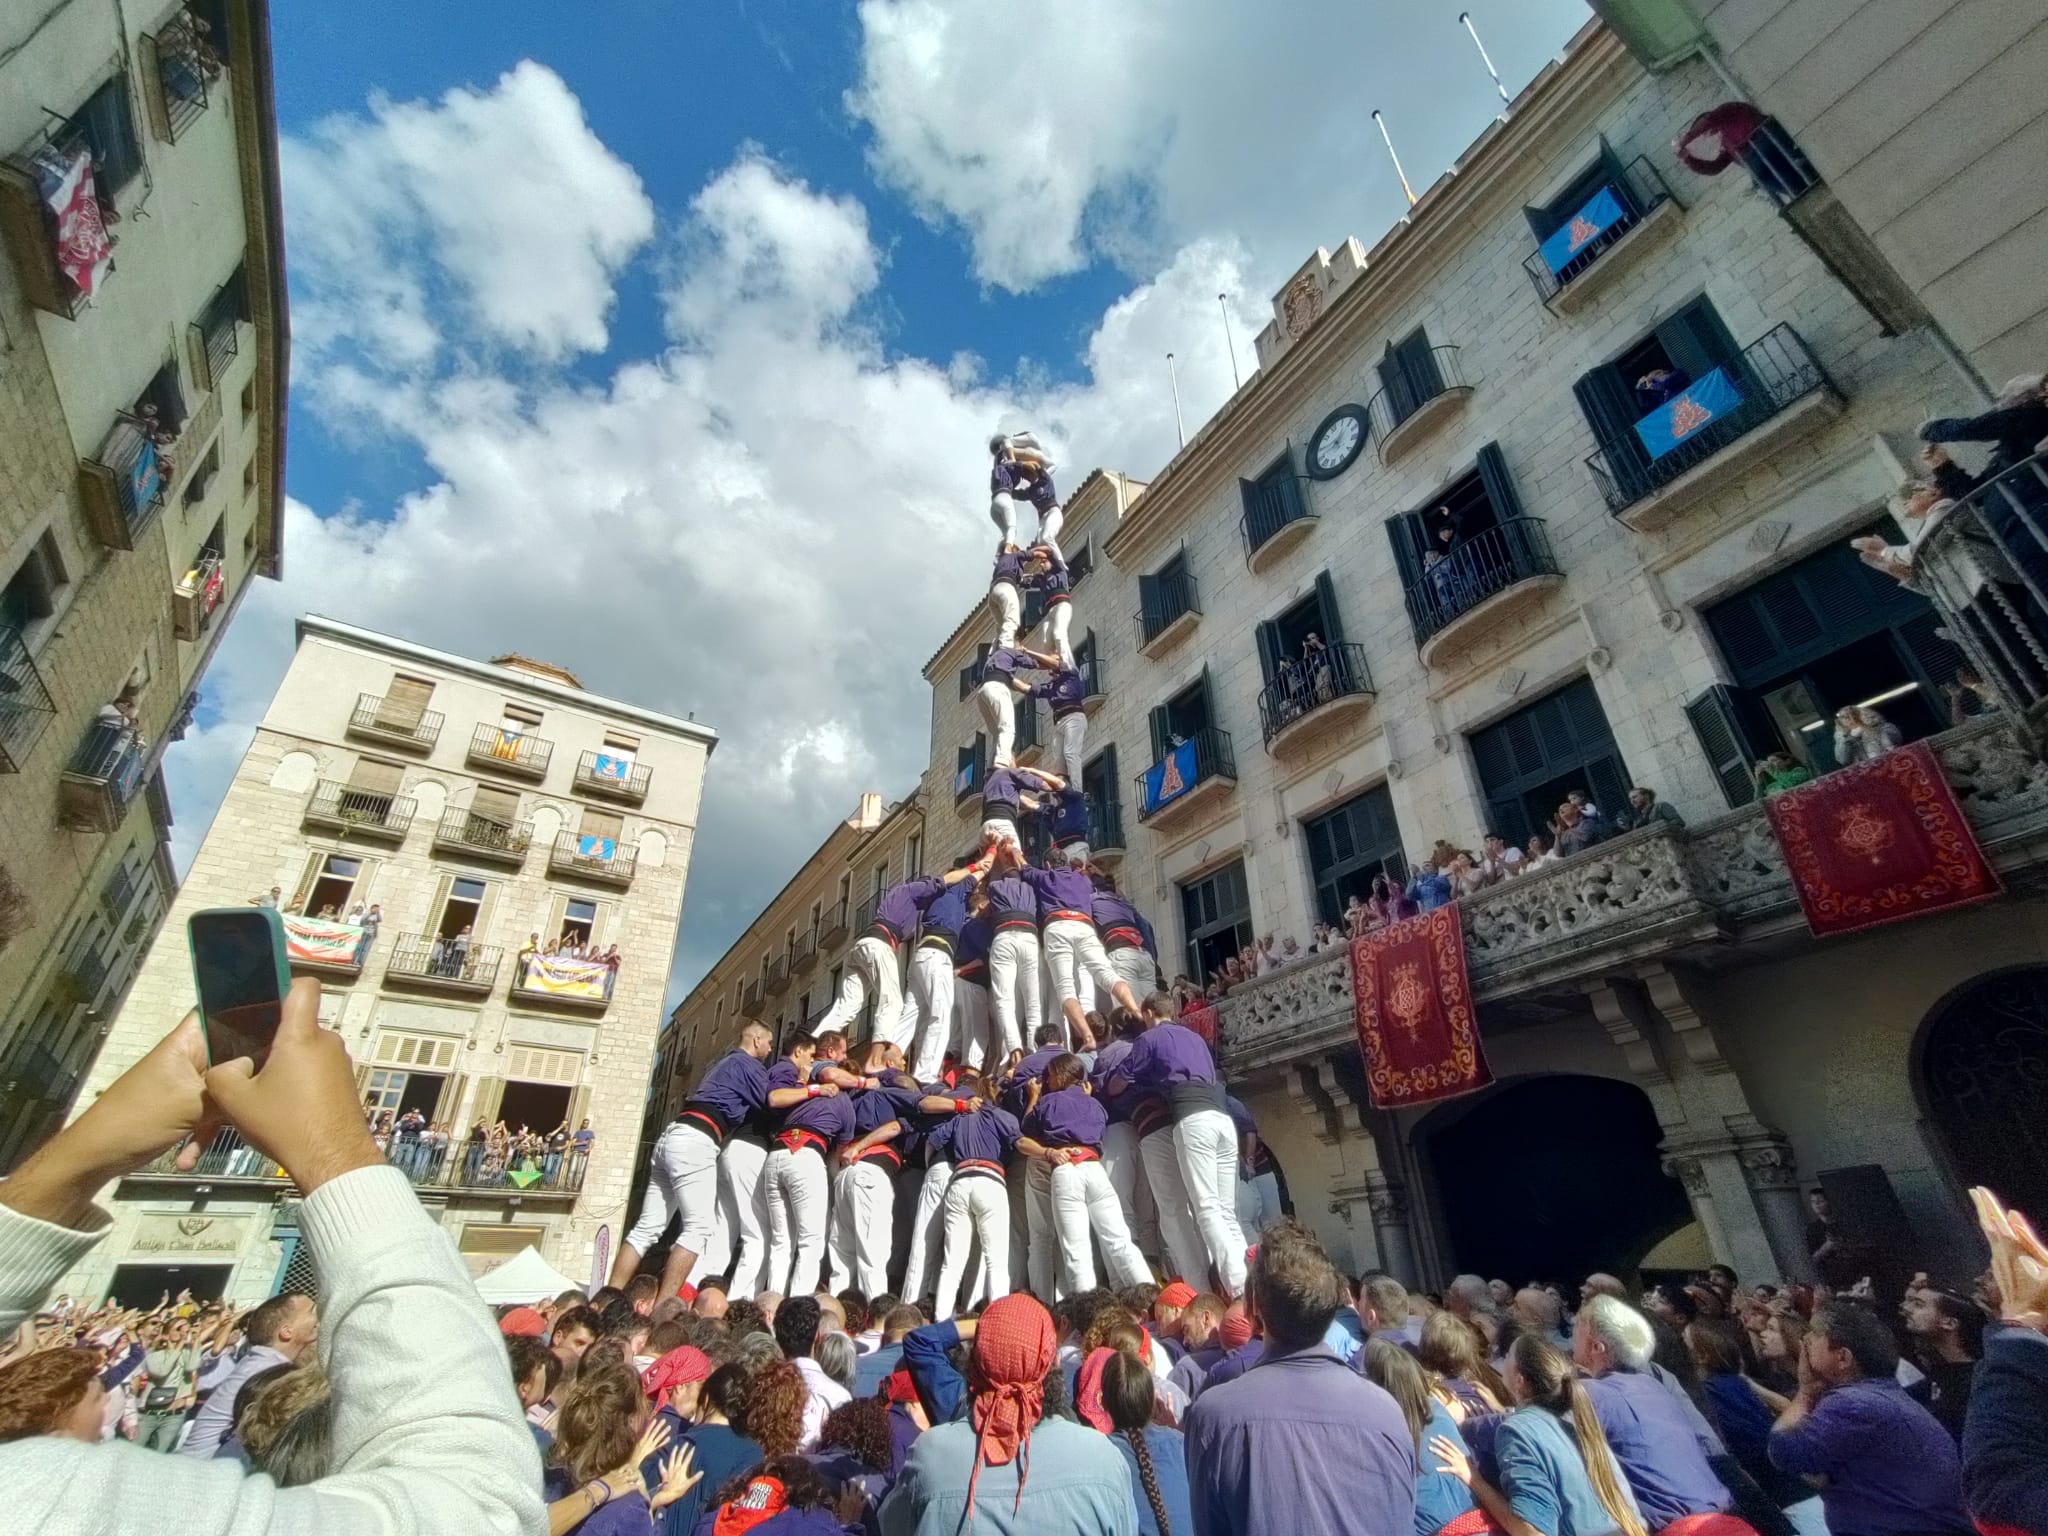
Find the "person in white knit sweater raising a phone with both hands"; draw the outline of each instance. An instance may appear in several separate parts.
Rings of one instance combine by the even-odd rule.
[[[195,958],[207,1024],[188,1014],[0,1182],[0,1337],[104,1237],[109,1217],[94,1196],[111,1180],[180,1143],[178,1163],[190,1169],[213,1135],[233,1126],[283,1163],[303,1196],[317,1335],[303,1298],[289,1311],[332,1382],[330,1470],[279,1487],[233,1460],[164,1456],[125,1440],[10,1440],[0,1444],[0,1524],[37,1536],[539,1536],[541,1462],[498,1325],[449,1233],[373,1145],[348,1051],[319,1026],[319,983],[287,991],[283,965],[274,969],[264,1049],[268,1030],[252,1034],[246,1014],[213,1016],[197,924]],[[244,1004],[233,999],[236,1012]],[[252,1055],[227,1055],[231,1040]]]

